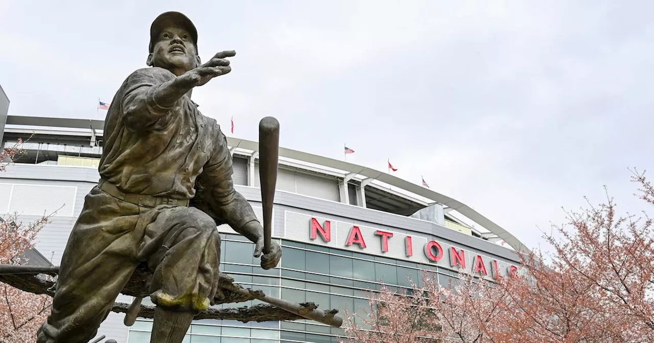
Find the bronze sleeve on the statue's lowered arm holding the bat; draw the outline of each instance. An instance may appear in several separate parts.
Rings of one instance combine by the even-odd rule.
[[[214,129],[213,155],[198,178],[205,188],[211,210],[238,232],[245,224],[257,219],[250,203],[234,189],[232,154],[227,146],[227,138],[217,124]]]

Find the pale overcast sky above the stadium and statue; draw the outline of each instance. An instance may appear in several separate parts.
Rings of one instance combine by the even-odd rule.
[[[148,3],[149,5],[143,5]],[[458,199],[523,240],[561,206],[643,208],[628,167],[652,169],[651,1],[5,1],[9,113],[103,119],[145,67],[148,29],[180,10],[199,54],[235,50],[194,91],[203,114],[256,140],[386,170]],[[192,4],[192,5],[191,5]]]

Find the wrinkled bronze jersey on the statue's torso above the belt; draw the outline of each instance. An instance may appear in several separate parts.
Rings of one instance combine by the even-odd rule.
[[[232,157],[216,120],[203,116],[188,95],[165,108],[156,88],[173,80],[167,69],[130,74],[105,120],[100,176],[125,193],[191,199],[196,178],[212,184],[232,177]]]

